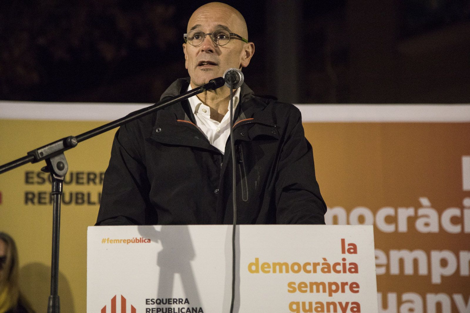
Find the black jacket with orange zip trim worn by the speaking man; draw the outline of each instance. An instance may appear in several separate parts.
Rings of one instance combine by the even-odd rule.
[[[185,92],[188,83],[177,80],[162,99]],[[237,223],[324,224],[299,110],[241,88],[233,128]],[[117,131],[97,225],[232,222],[230,140],[225,154],[213,147],[187,100]]]

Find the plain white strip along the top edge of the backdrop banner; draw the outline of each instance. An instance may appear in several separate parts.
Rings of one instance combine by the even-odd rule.
[[[112,121],[151,103],[0,101],[0,119]],[[303,122],[470,122],[470,104],[298,104]]]

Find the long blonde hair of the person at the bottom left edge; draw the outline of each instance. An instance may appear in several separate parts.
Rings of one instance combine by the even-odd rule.
[[[28,312],[33,313],[31,305],[20,292],[18,251],[15,241],[3,232],[0,232],[0,240],[7,245],[6,261],[0,272],[0,313],[15,308],[18,303],[21,303]]]

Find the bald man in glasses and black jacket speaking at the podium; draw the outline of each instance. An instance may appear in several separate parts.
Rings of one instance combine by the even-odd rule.
[[[247,67],[255,51],[243,16],[219,2],[191,15],[184,39],[190,77],[175,81],[162,100]],[[96,224],[231,224],[232,153],[238,224],[324,224],[299,110],[243,84],[233,92],[232,151],[231,96],[223,86],[122,126]]]

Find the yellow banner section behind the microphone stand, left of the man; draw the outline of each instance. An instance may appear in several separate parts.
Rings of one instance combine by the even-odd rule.
[[[0,163],[104,122],[0,120]],[[62,312],[86,312],[86,228],[98,214],[102,177],[115,130],[65,152],[69,171],[63,184],[59,296]],[[0,175],[0,230],[18,246],[21,287],[38,313],[47,312],[50,292],[52,204],[45,161]]]

